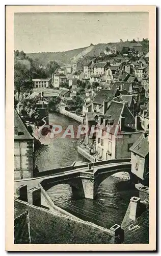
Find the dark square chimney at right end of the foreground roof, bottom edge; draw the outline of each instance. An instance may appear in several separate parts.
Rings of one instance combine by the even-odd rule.
[[[124,242],[124,230],[121,228],[120,225],[115,224],[110,228],[110,233],[114,237],[115,244],[121,244]]]

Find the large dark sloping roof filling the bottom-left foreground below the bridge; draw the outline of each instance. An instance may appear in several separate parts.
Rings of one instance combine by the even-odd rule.
[[[109,229],[83,220],[53,213],[47,209],[15,200],[19,214],[28,210],[32,244],[113,244]]]

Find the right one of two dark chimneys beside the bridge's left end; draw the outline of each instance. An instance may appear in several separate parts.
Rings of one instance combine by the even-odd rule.
[[[40,187],[33,187],[28,190],[28,202],[30,204],[41,206],[41,189]]]

